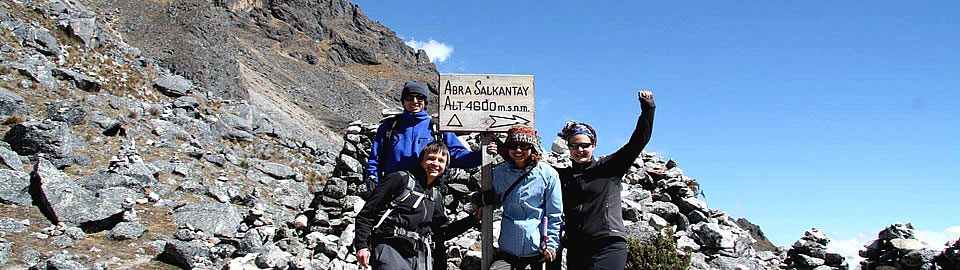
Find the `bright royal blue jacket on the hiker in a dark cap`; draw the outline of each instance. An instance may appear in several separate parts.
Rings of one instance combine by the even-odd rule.
[[[377,129],[377,137],[373,140],[373,147],[370,149],[370,156],[367,159],[367,168],[364,172],[364,179],[370,179],[373,176],[373,182],[380,182],[380,177],[399,170],[405,170],[420,163],[420,150],[424,146],[433,142],[433,134],[430,132],[430,115],[426,110],[418,113],[411,113],[406,110],[400,114],[399,123],[396,126],[396,134],[388,143],[384,142],[387,129],[393,125],[394,119],[390,118],[380,124]],[[457,135],[452,132],[444,132],[447,148],[450,149],[450,167],[453,168],[473,168],[480,166],[480,152],[474,152],[467,149],[457,139]],[[371,187],[372,188],[372,187]]]

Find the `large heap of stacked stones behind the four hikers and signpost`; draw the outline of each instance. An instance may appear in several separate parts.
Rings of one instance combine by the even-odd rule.
[[[389,117],[389,112],[384,112]],[[362,208],[365,195],[363,164],[376,135],[377,124],[356,121],[344,136],[344,147],[337,157],[333,176],[327,179],[315,198],[316,212],[310,219],[313,227],[326,233],[339,232],[339,252],[331,257],[346,263],[355,262],[350,248],[353,218]],[[459,139],[473,150],[480,150],[477,136]],[[545,161],[553,166],[569,166],[569,153],[561,139],[554,141]],[[444,205],[451,220],[466,217],[475,206],[467,195],[480,189],[479,169],[451,169],[443,186]],[[723,211],[707,208],[697,199],[694,179],[683,175],[673,160],[664,160],[656,153],[643,153],[624,176],[623,216],[631,238],[649,239],[674,232],[678,249],[692,256],[691,269],[776,269],[782,258],[770,251],[757,252],[755,240]],[[450,269],[477,269],[480,261],[480,232],[471,229],[447,242]],[[497,231],[496,223],[494,231]],[[308,237],[309,238],[309,237]],[[337,240],[337,239],[331,239]],[[346,252],[349,249],[349,252]]]

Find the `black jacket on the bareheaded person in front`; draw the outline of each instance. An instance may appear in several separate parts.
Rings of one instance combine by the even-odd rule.
[[[416,179],[414,190],[421,192],[426,196],[420,201],[416,208],[413,205],[417,201],[416,196],[410,196],[403,201],[390,213],[381,227],[400,227],[407,231],[417,232],[420,235],[431,235],[433,241],[446,241],[453,238],[470,227],[479,224],[479,221],[473,215],[464,219],[450,223],[443,209],[443,195],[438,198],[431,198],[433,192],[431,188],[439,186],[442,178],[433,181],[427,185],[426,173],[423,168],[415,166],[406,171],[410,177]],[[388,174],[384,179],[377,183],[370,197],[367,198],[363,209],[357,214],[356,219],[356,237],[354,247],[357,250],[372,248],[378,239],[372,232],[373,225],[376,225],[380,217],[387,210],[387,204],[393,201],[407,188],[407,179],[401,172]],[[371,237],[373,236],[373,237]]]

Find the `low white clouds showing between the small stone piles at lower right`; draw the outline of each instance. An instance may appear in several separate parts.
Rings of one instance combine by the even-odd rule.
[[[860,269],[860,261],[863,261],[863,258],[860,257],[859,252],[861,249],[865,249],[864,246],[877,240],[878,233],[880,233],[880,230],[859,233],[848,239],[834,239],[827,244],[827,250],[847,258],[850,269]],[[926,243],[927,248],[943,250],[944,243],[957,240],[957,237],[960,237],[960,226],[953,226],[942,232],[916,230],[913,235]]]

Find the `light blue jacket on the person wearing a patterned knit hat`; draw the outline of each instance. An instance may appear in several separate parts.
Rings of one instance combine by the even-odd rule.
[[[500,251],[519,257],[540,254],[543,236],[541,220],[547,217],[547,247],[557,250],[560,242],[560,216],[563,213],[560,177],[546,162],[538,162],[510,194],[503,193],[527,170],[504,162],[493,168],[494,209],[503,206],[500,221]]]

